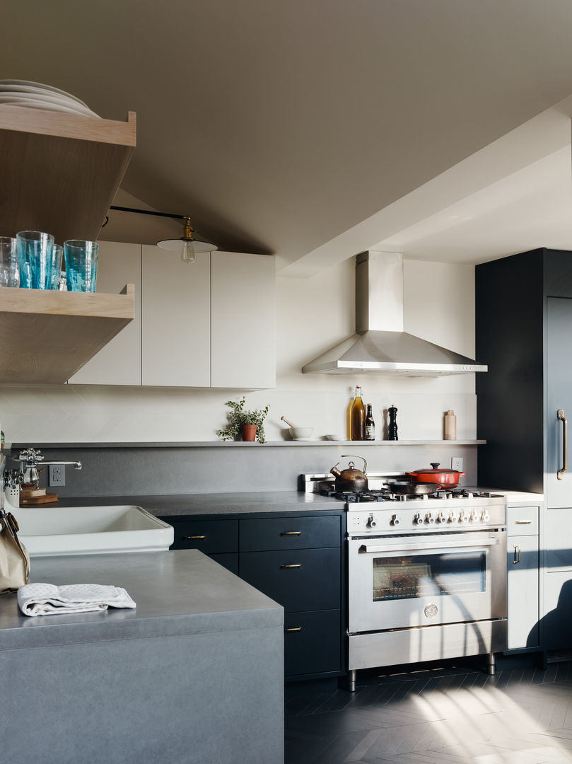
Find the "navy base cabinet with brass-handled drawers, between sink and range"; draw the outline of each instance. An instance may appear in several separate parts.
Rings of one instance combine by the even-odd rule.
[[[344,513],[162,519],[171,549],[200,549],[283,606],[286,679],[344,674]]]

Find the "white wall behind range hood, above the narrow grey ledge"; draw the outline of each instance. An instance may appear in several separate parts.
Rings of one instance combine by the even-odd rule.
[[[404,261],[405,329],[474,357],[474,268]],[[263,320],[263,316],[261,316]],[[246,393],[247,406],[270,403],[267,439],[281,440],[280,416],[315,427],[315,437],[345,432],[356,384],[373,403],[378,437],[383,410],[399,410],[399,439],[441,439],[443,413],[457,413],[457,437],[476,436],[472,374],[436,379],[302,374],[308,361],[354,333],[354,258],[308,280],[276,280],[275,390]],[[486,359],[483,359],[486,362]],[[7,442],[182,442],[215,440],[224,403],[236,390],[0,386]]]

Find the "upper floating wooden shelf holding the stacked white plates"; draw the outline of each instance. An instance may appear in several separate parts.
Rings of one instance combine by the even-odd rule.
[[[95,240],[134,148],[134,112],[120,122],[0,105],[0,232]]]

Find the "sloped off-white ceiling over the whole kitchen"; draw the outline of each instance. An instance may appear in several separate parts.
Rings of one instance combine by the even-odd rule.
[[[373,246],[572,250],[572,3],[18,0],[2,22],[2,79],[137,112],[121,201],[285,276]],[[178,225],[119,215],[105,238]]]

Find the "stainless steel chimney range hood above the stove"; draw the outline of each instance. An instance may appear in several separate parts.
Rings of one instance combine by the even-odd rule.
[[[304,374],[439,377],[487,371],[484,364],[403,331],[403,261],[362,252],[356,261],[356,334],[302,368]]]

